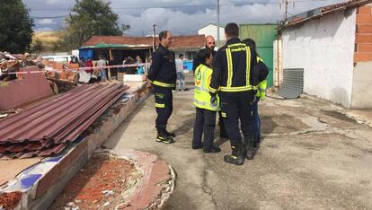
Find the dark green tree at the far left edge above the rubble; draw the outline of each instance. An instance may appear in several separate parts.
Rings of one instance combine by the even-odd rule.
[[[0,1],[0,51],[23,53],[29,49],[33,26],[22,0]]]

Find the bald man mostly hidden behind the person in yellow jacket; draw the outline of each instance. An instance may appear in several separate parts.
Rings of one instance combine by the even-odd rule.
[[[212,52],[213,58],[216,57],[216,53],[217,53],[217,51],[215,50],[215,47],[216,47],[215,38],[208,35],[206,37],[206,43],[205,43],[204,48],[207,48]],[[200,50],[202,50],[204,48],[201,48]],[[199,65],[201,63],[202,63],[202,61],[200,61],[198,57],[194,57],[194,60],[192,62],[192,71],[194,72],[194,74],[195,74],[196,68],[199,67]],[[218,116],[219,116],[219,118],[218,118],[219,137],[228,138],[226,128],[225,128],[225,125],[224,125],[224,120],[222,119],[221,111],[218,111]]]

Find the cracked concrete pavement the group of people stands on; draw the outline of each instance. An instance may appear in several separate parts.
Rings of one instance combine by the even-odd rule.
[[[164,209],[372,209],[372,129],[325,101],[261,102],[264,141],[244,166],[223,162],[230,153],[190,149],[192,91],[174,93],[170,130],[175,144],[155,142],[154,97],[148,98],[105,144],[155,153],[177,172]]]

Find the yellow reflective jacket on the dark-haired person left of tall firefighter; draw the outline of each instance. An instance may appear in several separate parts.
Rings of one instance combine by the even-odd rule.
[[[209,84],[212,77],[213,70],[208,66],[199,65],[195,69],[194,74],[194,105],[200,109],[208,109],[212,111],[219,111],[219,98],[217,102],[211,103],[211,96],[209,94]]]

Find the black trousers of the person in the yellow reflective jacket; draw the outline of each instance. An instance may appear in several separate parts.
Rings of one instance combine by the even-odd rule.
[[[205,150],[211,149],[213,146],[213,140],[215,139],[215,127],[216,111],[197,108],[192,145],[193,146],[201,145],[201,137],[203,136],[204,133],[203,148]]]

